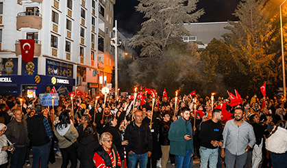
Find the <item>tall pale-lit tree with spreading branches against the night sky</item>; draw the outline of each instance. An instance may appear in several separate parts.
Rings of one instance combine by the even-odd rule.
[[[204,14],[197,10],[198,0],[138,0],[136,10],[145,14],[147,21],[132,38],[130,46],[142,47],[140,57],[162,55],[164,48],[173,43],[174,38],[186,36],[184,23],[197,22]]]

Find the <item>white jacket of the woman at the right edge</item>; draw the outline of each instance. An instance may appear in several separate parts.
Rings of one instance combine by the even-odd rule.
[[[277,130],[266,139],[266,150],[276,154],[283,154],[287,151],[287,130],[278,126]]]

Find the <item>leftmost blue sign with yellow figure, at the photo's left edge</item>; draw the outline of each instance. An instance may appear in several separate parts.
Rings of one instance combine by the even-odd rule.
[[[0,58],[0,75],[17,75],[18,58]]]

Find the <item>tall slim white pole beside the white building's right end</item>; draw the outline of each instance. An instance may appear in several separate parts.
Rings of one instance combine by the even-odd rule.
[[[118,46],[121,45],[121,42],[118,44],[118,28],[117,28],[117,21],[114,20],[114,38],[110,44],[114,46],[114,93],[116,96],[118,95]],[[114,41],[114,42],[113,42]]]

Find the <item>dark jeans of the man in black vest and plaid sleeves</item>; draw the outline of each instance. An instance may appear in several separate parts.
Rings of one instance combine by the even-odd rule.
[[[33,149],[33,165],[32,168],[40,167],[40,158],[41,158],[41,168],[47,168],[49,154],[51,148],[51,141],[46,145],[42,146],[32,146]]]

